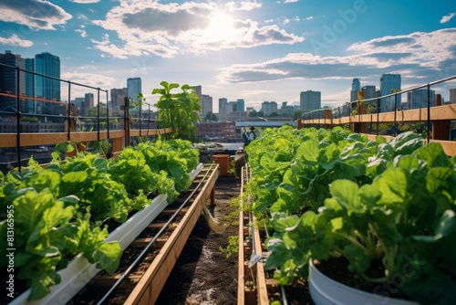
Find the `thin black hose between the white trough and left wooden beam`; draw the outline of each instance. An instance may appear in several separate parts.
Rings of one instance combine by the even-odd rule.
[[[139,263],[140,261],[142,260],[142,258],[149,252],[149,249],[150,247],[152,247],[152,245],[157,241],[157,239],[159,237],[161,237],[161,235],[163,234],[163,232],[168,228],[168,226],[171,225],[171,222],[174,220],[174,218],[176,216],[179,215],[179,213],[181,212],[181,209],[187,205],[187,203],[190,201],[190,198],[192,198],[192,195],[194,195],[196,193],[196,191],[200,188],[201,184],[204,182],[204,180],[206,179],[206,177],[208,176],[209,173],[211,173],[211,169],[212,169],[213,165],[211,165],[211,167],[208,169],[207,173],[204,175],[204,177],[202,178],[201,182],[195,187],[195,189],[192,191],[192,194],[189,195],[187,197],[187,199],[185,199],[185,201],[183,202],[183,204],[177,209],[177,211],[171,216],[170,220],[168,220],[168,222],[160,229],[160,231],[155,235],[155,237],[152,238],[152,240],[150,240],[150,243],[141,251],[140,255],[138,256],[138,258],[135,259],[135,261],[133,261],[130,265],[129,268],[127,268],[123,273],[122,275],[120,276],[120,278],[114,283],[114,285],[112,285],[112,287],[109,289],[108,292],[106,292],[106,294],[103,296],[103,298],[101,300],[98,301],[97,305],[101,305],[103,304],[104,301],[108,300],[110,294],[112,292],[114,292],[115,289],[117,289],[120,285],[120,283],[127,278],[127,276],[129,276],[129,274],[131,273],[131,271],[133,270],[133,268],[135,268]]]

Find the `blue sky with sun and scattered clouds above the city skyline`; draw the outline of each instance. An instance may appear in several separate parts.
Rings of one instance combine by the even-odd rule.
[[[165,80],[202,86],[213,112],[220,98],[297,105],[306,90],[336,107],[354,78],[378,88],[399,73],[409,89],[456,75],[456,1],[0,0],[5,50],[49,52],[61,79],[95,88],[140,78],[151,105]],[[450,88],[456,81],[434,89],[449,100]]]

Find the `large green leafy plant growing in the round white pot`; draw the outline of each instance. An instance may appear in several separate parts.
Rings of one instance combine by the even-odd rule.
[[[344,257],[360,282],[420,303],[456,301],[456,159],[414,138],[404,134],[378,150],[371,183],[339,179],[317,211],[272,215],[265,267],[279,269],[279,283],[306,278],[310,258]]]

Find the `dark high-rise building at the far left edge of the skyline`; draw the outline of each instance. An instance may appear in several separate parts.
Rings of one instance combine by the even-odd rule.
[[[11,53],[11,51],[5,51],[5,54],[0,54],[0,63],[11,67],[26,68],[26,59]],[[19,80],[19,84],[17,84],[17,80]],[[15,68],[0,66],[0,92],[12,95],[16,95],[17,92],[19,94],[26,93],[26,74],[20,71],[19,77],[17,77]],[[8,106],[16,109],[16,98],[0,96],[0,110],[4,110]],[[30,112],[29,105],[27,103],[22,104],[21,111]]]

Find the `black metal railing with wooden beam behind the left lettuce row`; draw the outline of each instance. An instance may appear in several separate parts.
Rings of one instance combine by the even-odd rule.
[[[167,129],[157,131],[157,119],[151,117],[152,105],[145,101],[140,103],[139,110],[135,111],[136,114],[133,113],[134,116],[130,116],[130,99],[125,98],[124,104],[120,107],[109,105],[107,89],[67,79],[58,79],[2,63],[0,63],[0,73],[10,74],[13,81],[16,82],[16,87],[12,85],[15,88],[0,88],[0,130],[7,131],[0,131],[0,150],[16,148],[18,165],[25,162],[24,156],[27,157],[26,160],[29,157],[21,150],[23,147],[37,147],[37,145],[58,142],[88,143],[108,140],[111,143],[115,142],[116,150],[121,151],[122,147],[131,144],[131,140],[134,142],[135,137],[155,136],[158,132],[169,132]],[[26,88],[27,77],[29,79],[33,77],[34,82],[36,78],[57,81],[62,90],[62,96],[59,97],[59,100],[51,100],[50,97],[44,96],[36,97],[35,94],[27,96],[26,91],[32,91]],[[10,84],[14,82],[10,82]],[[66,94],[65,89],[67,89]],[[72,94],[74,95],[75,91],[83,92],[83,90],[87,90],[88,92],[86,91],[87,93],[84,94],[88,94],[89,98],[93,99],[95,111],[88,111],[88,105],[80,108],[83,113],[75,110],[76,105],[71,100]],[[60,100],[63,96],[66,99],[64,101]],[[92,103],[91,100],[90,103]],[[147,107],[146,113],[142,107]],[[117,116],[112,113],[117,113]],[[44,127],[47,125],[55,128],[45,129]],[[39,139],[34,135],[37,135]]]

